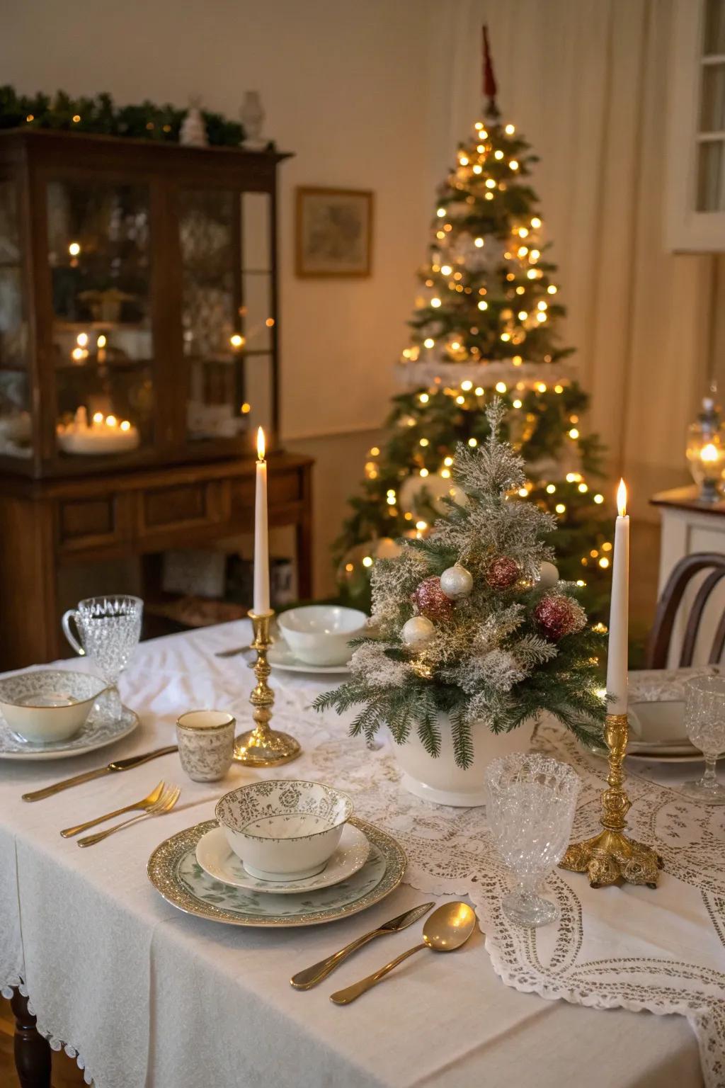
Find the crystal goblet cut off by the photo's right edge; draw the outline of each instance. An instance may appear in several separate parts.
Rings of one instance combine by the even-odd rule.
[[[687,682],[685,730],[704,756],[704,775],[685,782],[683,793],[708,805],[725,805],[725,788],[717,781],[715,765],[725,752],[725,679],[696,677]]]

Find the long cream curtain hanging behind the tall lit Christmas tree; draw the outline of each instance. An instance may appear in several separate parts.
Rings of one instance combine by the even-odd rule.
[[[714,369],[715,259],[664,249],[668,0],[454,0],[430,8],[434,174],[480,109],[480,25],[535,188],[592,398],[633,510],[688,479],[685,430]],[[437,45],[436,45],[437,40]],[[721,284],[725,277],[721,275]]]

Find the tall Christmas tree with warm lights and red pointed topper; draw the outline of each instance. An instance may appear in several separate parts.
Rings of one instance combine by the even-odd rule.
[[[528,183],[537,159],[499,116],[485,28],[484,46],[484,119],[437,196],[402,353],[407,390],[350,500],[336,542],[339,581],[346,597],[364,603],[376,559],[397,554],[399,537],[429,531],[442,498],[454,496],[457,443],[475,448],[486,440],[485,407],[499,396],[504,433],[527,466],[518,495],[555,516],[562,574],[600,615],[612,548],[597,486],[600,446],[583,432],[588,398],[557,332],[565,311]]]

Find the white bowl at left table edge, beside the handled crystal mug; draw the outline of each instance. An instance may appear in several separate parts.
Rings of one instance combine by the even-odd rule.
[[[0,710],[26,741],[64,741],[85,725],[108,684],[89,672],[41,669],[0,680]]]

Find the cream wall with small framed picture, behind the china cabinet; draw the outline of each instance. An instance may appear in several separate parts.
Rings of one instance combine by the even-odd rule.
[[[9,9],[11,9],[9,11]],[[428,23],[418,0],[5,0],[0,82],[109,90],[120,103],[190,94],[228,116],[261,91],[280,172],[282,432],[317,459],[315,591],[328,544],[393,392],[430,213]],[[375,194],[373,274],[298,280],[293,189]],[[336,437],[337,436],[337,437]]]

